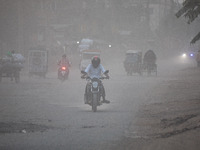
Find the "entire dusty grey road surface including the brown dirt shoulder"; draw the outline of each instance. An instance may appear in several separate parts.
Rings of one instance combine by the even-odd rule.
[[[56,72],[46,79],[25,74],[19,84],[4,79],[0,149],[198,149],[200,71],[160,64],[157,77],[126,76],[122,64],[105,65],[111,103],[96,113],[83,104],[86,82],[76,68],[64,83]]]

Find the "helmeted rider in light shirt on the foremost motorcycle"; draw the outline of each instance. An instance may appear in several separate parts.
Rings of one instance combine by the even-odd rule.
[[[91,60],[91,64],[89,64],[87,66],[87,68],[85,69],[85,72],[87,73],[87,75],[93,79],[93,78],[100,78],[101,77],[101,74],[103,73],[107,79],[109,79],[109,75],[107,73],[105,73],[105,69],[104,67],[100,64],[101,60],[98,56],[94,56]],[[82,75],[81,78],[84,78],[86,74]],[[110,101],[106,100],[105,99],[105,89],[104,89],[104,86],[102,84],[102,82],[100,83],[101,84],[101,94],[102,94],[102,98],[103,98],[103,103],[110,103]],[[86,85],[86,88],[85,88],[85,97],[86,97],[86,100],[88,100],[88,91],[90,89],[90,85],[87,84]],[[85,102],[87,103],[87,102]]]

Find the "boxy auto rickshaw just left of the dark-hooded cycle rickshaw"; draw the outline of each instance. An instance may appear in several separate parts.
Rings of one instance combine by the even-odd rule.
[[[133,73],[142,75],[142,52],[140,50],[126,51],[124,68],[127,72],[127,75],[132,75]]]

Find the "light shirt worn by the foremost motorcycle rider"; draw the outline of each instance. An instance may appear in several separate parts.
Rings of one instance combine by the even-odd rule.
[[[88,74],[90,78],[100,78],[101,74],[105,72],[104,67],[99,64],[97,68],[94,68],[92,64],[89,64],[85,69],[85,72]]]

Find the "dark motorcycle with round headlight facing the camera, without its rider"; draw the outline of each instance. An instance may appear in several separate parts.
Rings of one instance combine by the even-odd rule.
[[[107,70],[104,74],[107,74],[109,71]],[[81,71],[83,75],[87,73],[85,71]],[[102,81],[103,79],[108,79],[107,77],[100,78],[90,78],[89,76],[82,76],[82,79],[86,79],[88,81],[86,90],[87,96],[84,96],[84,101],[86,104],[92,106],[92,111],[97,111],[97,106],[102,105]]]

